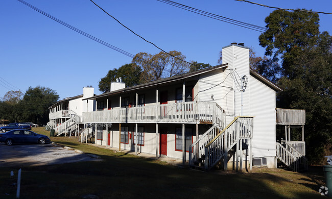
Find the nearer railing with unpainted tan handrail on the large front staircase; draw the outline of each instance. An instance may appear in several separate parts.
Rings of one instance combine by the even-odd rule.
[[[204,168],[208,170],[222,158],[227,162],[228,151],[243,138],[252,138],[253,117],[235,117],[233,121],[205,146]]]

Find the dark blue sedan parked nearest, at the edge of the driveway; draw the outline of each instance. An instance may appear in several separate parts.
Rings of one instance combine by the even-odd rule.
[[[7,133],[0,133],[0,142],[5,142],[7,145],[13,143],[50,143],[51,139],[48,136],[40,135],[26,129],[15,129]]]

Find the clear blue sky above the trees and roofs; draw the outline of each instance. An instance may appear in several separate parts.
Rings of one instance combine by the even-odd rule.
[[[133,55],[159,53],[159,49],[135,36],[89,0],[25,0],[52,16]],[[175,0],[174,0],[175,1]],[[94,0],[109,14],[165,51],[180,51],[187,61],[217,65],[219,52],[231,42],[252,46],[258,56],[260,32],[210,19],[156,0]],[[180,1],[224,17],[265,27],[274,9],[234,0]],[[208,3],[207,3],[208,2]],[[332,12],[332,1],[252,2],[290,9]],[[320,31],[332,32],[332,15],[320,15]],[[82,94],[108,70],[131,62],[131,58],[74,32],[15,0],[0,1],[0,97],[10,90],[23,93],[31,87],[55,90],[60,98]]]

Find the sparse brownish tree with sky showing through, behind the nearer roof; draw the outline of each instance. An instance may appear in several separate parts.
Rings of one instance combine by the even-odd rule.
[[[168,54],[160,52],[155,55],[138,53],[132,63],[143,70],[141,82],[145,83],[187,72],[189,64],[181,60],[185,60],[181,52],[170,51]]]

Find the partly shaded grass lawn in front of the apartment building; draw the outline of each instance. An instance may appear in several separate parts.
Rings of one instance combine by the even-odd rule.
[[[33,131],[50,135],[43,128]],[[296,173],[283,169],[254,168],[253,172],[201,172],[125,153],[114,153],[78,142],[78,138],[51,140],[103,161],[23,167],[20,198],[325,198],[322,167]],[[0,198],[16,198],[10,171],[0,168]],[[6,195],[8,193],[9,195]]]

